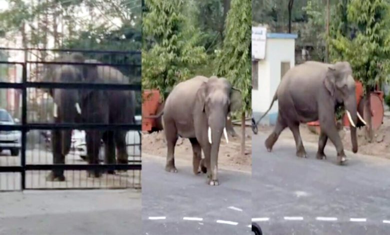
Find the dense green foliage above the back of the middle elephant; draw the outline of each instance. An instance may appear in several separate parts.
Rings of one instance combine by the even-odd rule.
[[[184,0],[145,0],[142,88],[158,88],[163,98],[206,61],[201,34],[184,14],[187,6]]]

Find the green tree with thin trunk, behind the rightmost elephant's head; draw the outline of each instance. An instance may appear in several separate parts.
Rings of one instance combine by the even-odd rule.
[[[346,17],[342,9],[347,9]],[[329,39],[333,60],[346,60],[354,77],[364,87],[365,109],[370,110],[370,91],[385,81],[390,71],[390,17],[386,0],[348,0],[338,5],[338,17],[343,19],[334,25]],[[372,141],[371,115],[367,122],[366,136]]]

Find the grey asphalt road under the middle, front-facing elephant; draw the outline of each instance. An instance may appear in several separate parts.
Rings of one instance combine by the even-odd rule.
[[[210,186],[191,162],[175,161],[178,172],[169,173],[165,158],[142,155],[143,234],[251,234],[250,173],[220,169],[220,185]]]

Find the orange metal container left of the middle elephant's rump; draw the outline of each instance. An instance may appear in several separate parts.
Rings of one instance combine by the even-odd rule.
[[[156,124],[155,118],[145,116],[155,115],[160,102],[158,89],[144,90],[142,93],[142,131],[150,131]]]

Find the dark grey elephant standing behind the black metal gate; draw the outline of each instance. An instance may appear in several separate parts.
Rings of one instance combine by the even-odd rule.
[[[88,62],[79,53],[72,53],[57,58],[56,61]],[[89,61],[98,63],[98,61]],[[115,68],[97,65],[53,65],[46,67],[43,79],[62,82],[121,82],[124,75]],[[86,89],[52,89],[49,90],[57,105],[55,123],[133,123],[135,112],[135,95],[133,91],[86,90]],[[81,114],[77,112],[75,103],[79,103]],[[123,111],[126,110],[126,111]],[[87,160],[98,163],[100,139],[105,144],[105,162],[115,163],[115,145],[118,150],[118,162],[127,163],[125,130],[101,131],[86,130]],[[64,163],[70,150],[71,130],[52,131],[53,162]],[[110,172],[112,173],[112,171]],[[88,172],[89,176],[98,177],[101,172]],[[64,180],[63,171],[50,172],[47,180]]]

